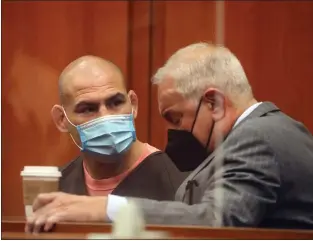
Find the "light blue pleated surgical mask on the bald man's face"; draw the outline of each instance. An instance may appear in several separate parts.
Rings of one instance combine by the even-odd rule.
[[[82,152],[91,152],[105,156],[114,156],[126,152],[136,141],[133,114],[109,115],[99,117],[81,125],[74,125],[67,117],[68,122],[76,127],[81,145],[74,138],[74,143]]]

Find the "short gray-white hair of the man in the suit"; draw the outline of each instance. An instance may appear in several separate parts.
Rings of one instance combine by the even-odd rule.
[[[173,78],[176,90],[185,98],[199,100],[204,91],[215,87],[234,104],[253,98],[243,67],[227,48],[196,43],[179,49],[152,77],[153,84]]]

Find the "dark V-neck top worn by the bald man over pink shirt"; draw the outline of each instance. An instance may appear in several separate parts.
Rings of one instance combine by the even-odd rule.
[[[61,168],[61,192],[88,195],[82,157]],[[174,200],[175,192],[188,173],[181,173],[163,152],[145,158],[113,190],[112,194],[153,200]]]

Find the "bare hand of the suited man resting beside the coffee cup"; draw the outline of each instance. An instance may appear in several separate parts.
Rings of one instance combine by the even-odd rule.
[[[106,197],[70,195],[61,192],[40,194],[27,218],[26,232],[49,231],[58,222],[98,222],[106,220]]]

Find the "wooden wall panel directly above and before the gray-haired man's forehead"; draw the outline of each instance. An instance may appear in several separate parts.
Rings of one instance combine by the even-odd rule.
[[[200,41],[214,42],[214,1],[155,1],[153,3],[152,73],[176,50]],[[151,90],[150,143],[163,149],[167,132],[160,117],[156,87]]]

